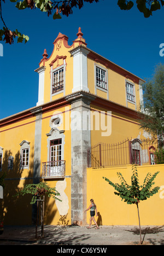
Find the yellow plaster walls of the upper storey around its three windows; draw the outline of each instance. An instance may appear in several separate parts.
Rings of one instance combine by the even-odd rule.
[[[60,41],[58,41],[59,43]],[[44,103],[50,102],[51,100],[56,100],[57,98],[63,97],[65,95],[71,94],[73,89],[73,56],[69,53],[70,50],[75,46],[68,46],[68,48],[61,40],[60,47],[54,45],[54,50],[52,54],[49,56],[49,59],[44,62],[45,69],[45,77],[44,77]],[[58,56],[58,57],[57,57]],[[65,86],[65,95],[63,92],[57,92],[56,95],[51,98],[51,66],[50,63],[54,62],[52,65],[52,69],[60,67],[63,65],[64,60],[62,57],[65,57],[66,61],[66,86]],[[57,59],[56,59],[57,58]],[[102,69],[108,72],[108,91],[102,91],[97,88],[97,93],[95,91],[95,65],[102,67]],[[40,62],[40,66],[43,66],[43,62]],[[112,69],[107,68],[99,62],[95,62],[95,60],[87,57],[87,79],[88,79],[88,88],[91,94],[97,94],[99,97],[103,97],[109,99],[110,101],[121,104],[122,106],[127,106],[128,108],[132,108],[134,110],[139,110],[140,99],[139,99],[139,86],[135,83],[135,101],[136,104],[126,102],[126,85],[125,85],[125,76],[113,71]],[[131,79],[128,79],[130,83],[134,84]]]

